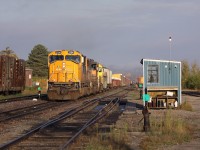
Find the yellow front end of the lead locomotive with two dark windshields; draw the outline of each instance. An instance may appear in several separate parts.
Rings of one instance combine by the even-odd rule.
[[[49,99],[77,99],[81,95],[84,56],[78,51],[62,50],[49,54]]]

